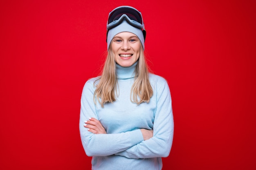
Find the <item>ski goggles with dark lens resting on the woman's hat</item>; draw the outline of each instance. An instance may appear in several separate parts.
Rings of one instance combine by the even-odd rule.
[[[141,12],[139,12],[137,9],[130,6],[120,6],[113,9],[113,11],[109,13],[108,22],[107,22],[107,31],[121,24],[121,22],[124,19],[130,25],[138,29],[141,29],[144,35],[144,39],[146,38],[146,30],[145,30]]]

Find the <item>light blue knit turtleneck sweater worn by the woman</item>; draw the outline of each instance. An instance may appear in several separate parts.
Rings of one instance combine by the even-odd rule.
[[[161,170],[162,159],[170,153],[173,142],[171,94],[166,80],[149,74],[153,96],[139,105],[130,100],[137,62],[130,67],[117,65],[119,95],[104,108],[93,102],[94,81],[89,79],[81,96],[80,135],[86,155],[92,157],[92,170]],[[83,126],[94,117],[107,134],[93,134]],[[144,141],[140,129],[153,130]]]

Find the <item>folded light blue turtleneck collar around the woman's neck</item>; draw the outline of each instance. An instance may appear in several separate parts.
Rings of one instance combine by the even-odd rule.
[[[117,78],[118,79],[130,79],[135,77],[135,68],[138,64],[138,61],[132,64],[129,67],[123,67],[120,66],[119,64],[117,65]]]

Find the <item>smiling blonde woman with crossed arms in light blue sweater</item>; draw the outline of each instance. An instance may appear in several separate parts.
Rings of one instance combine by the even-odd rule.
[[[93,170],[161,170],[173,141],[171,95],[164,78],[148,73],[141,13],[117,7],[107,31],[102,74],[81,96],[83,148]]]

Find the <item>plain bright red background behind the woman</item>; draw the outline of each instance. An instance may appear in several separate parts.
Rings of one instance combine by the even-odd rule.
[[[255,0],[2,0],[0,169],[90,169],[81,91],[99,73],[119,5],[142,12],[149,65],[171,89],[163,170],[255,170]]]

